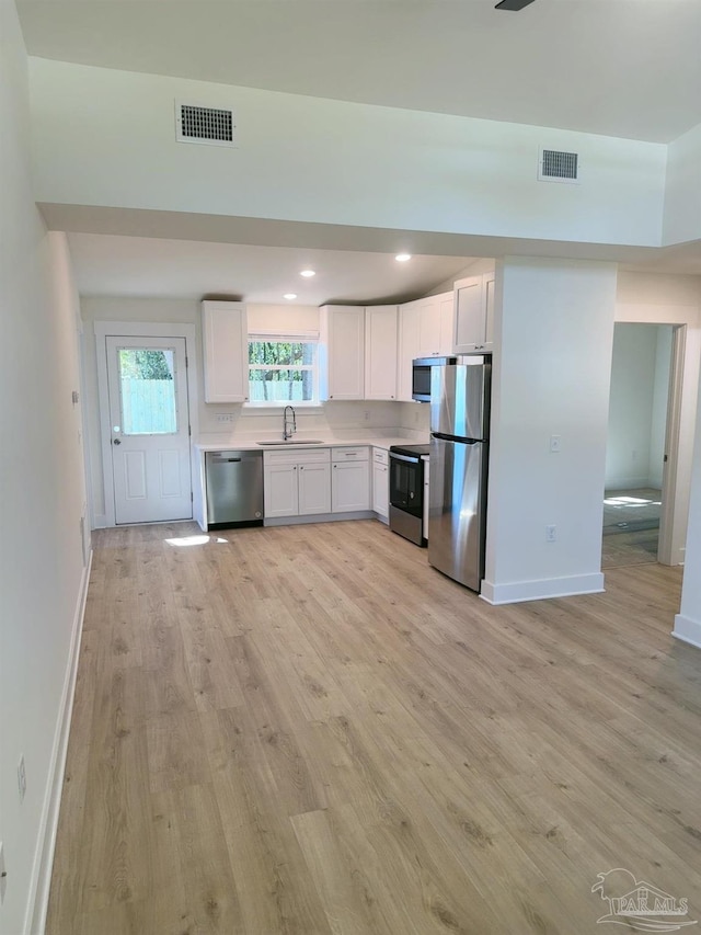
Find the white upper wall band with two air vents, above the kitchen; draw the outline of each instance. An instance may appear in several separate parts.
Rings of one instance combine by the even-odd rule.
[[[176,144],[174,100],[235,112],[238,148]],[[666,147],[45,59],[38,202],[658,246]],[[538,182],[539,147],[577,185]],[[634,167],[634,171],[631,171]]]

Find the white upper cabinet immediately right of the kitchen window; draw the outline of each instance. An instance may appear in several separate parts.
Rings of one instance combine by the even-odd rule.
[[[320,309],[320,398],[365,399],[365,307]]]

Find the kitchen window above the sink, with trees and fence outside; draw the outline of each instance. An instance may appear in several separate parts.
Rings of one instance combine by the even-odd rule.
[[[304,334],[249,335],[249,404],[318,406],[318,342]]]

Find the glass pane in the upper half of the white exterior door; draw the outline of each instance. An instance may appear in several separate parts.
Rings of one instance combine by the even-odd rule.
[[[169,435],[177,432],[175,352],[148,347],[117,351],[122,433]]]

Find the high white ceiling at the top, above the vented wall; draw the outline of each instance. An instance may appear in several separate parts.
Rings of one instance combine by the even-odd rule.
[[[699,0],[18,0],[45,58],[668,142],[701,123]]]

